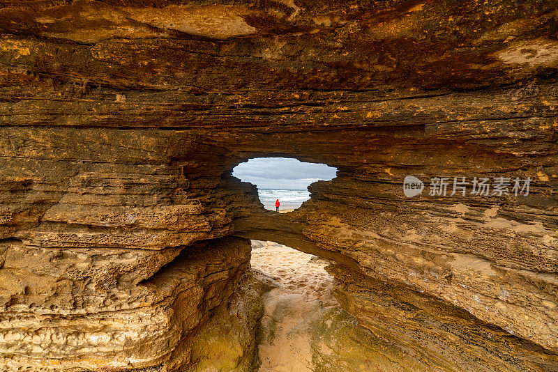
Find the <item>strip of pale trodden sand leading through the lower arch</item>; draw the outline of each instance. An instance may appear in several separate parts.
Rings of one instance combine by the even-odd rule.
[[[286,211],[285,211],[286,212]],[[252,242],[252,268],[278,288],[264,298],[259,371],[313,371],[309,314],[339,307],[326,261],[274,242]]]

